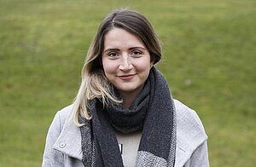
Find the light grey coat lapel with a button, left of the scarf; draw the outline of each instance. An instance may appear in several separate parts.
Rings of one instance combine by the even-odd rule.
[[[82,160],[81,133],[79,127],[73,123],[71,114],[67,117],[61,135],[59,135],[53,147],[61,153]]]

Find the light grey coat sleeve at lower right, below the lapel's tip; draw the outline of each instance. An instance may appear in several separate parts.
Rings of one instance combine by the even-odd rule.
[[[207,141],[195,149],[184,167],[209,167]]]

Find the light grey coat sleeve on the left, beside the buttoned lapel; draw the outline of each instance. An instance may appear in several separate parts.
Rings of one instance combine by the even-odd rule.
[[[43,164],[42,167],[62,167],[64,166],[63,153],[55,150],[53,145],[61,134],[61,118],[60,112],[55,114],[55,118],[49,126],[46,137]]]

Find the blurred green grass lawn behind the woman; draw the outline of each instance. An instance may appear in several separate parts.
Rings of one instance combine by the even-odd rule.
[[[211,166],[256,166],[254,0],[0,0],[0,166],[40,166],[105,14],[131,7],[163,43],[172,95],[198,112]]]

